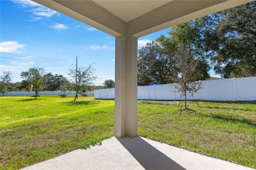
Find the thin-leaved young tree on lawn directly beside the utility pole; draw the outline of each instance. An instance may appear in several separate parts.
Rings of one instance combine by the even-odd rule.
[[[71,82],[75,84],[76,95],[74,101],[78,99],[78,92],[85,85],[89,85],[93,83],[97,77],[94,75],[94,68],[92,65],[88,67],[77,67],[74,69],[70,69],[69,73],[71,76]]]

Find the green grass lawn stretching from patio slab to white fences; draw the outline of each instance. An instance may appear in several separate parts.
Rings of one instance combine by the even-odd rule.
[[[113,136],[114,101],[0,98],[0,169],[19,169]],[[256,168],[256,102],[138,101],[139,135]]]

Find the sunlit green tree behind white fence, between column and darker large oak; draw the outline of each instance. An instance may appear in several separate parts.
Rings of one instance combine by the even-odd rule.
[[[193,23],[190,21],[175,25],[169,30],[169,36],[162,35],[139,50],[139,85],[172,83],[177,76],[174,73],[179,69],[175,65],[173,55],[180,45],[189,48],[190,53],[196,58],[197,71],[201,73],[198,80],[210,78],[207,73],[210,70],[210,65],[206,62],[207,53],[205,53],[203,38]]]

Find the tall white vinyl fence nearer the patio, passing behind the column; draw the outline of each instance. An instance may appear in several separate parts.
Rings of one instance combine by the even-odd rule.
[[[256,100],[256,77],[201,81],[202,89],[194,94],[197,100]],[[94,99],[114,99],[115,89],[94,90]],[[189,100],[194,99],[190,94]],[[179,100],[171,84],[138,86],[138,99]]]

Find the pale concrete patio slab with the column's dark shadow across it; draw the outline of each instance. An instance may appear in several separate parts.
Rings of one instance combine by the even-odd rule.
[[[102,141],[23,169],[252,169],[142,137]]]

